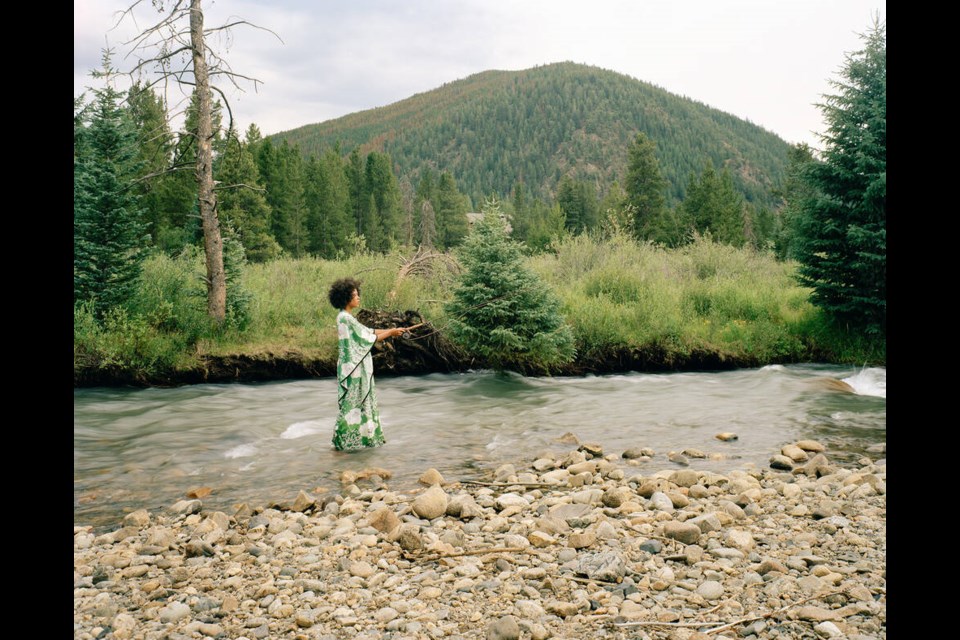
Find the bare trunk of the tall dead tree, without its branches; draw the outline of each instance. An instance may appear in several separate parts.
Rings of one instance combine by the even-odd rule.
[[[207,313],[218,324],[227,310],[227,281],[223,271],[223,239],[213,191],[213,124],[210,106],[210,76],[203,42],[203,10],[200,0],[190,0],[190,42],[197,92],[197,186],[200,219],[203,221],[203,250],[207,258]]]

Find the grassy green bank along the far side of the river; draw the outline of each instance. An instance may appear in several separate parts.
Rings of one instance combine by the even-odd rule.
[[[74,313],[75,381],[98,373],[149,381],[202,368],[209,357],[295,355],[336,359],[336,310],[330,283],[363,282],[363,305],[420,311],[436,327],[456,286],[445,261],[400,275],[410,251],[342,261],[280,259],[246,266],[231,283],[242,312],[223,328],[205,315],[202,255],[158,255],[144,269],[125,310],[98,321]],[[625,352],[655,351],[677,368],[712,354],[715,361],[757,364],[816,361],[883,365],[883,341],[830,327],[799,287],[796,264],[700,240],[682,249],[624,237],[586,236],[558,242],[528,266],[557,292],[577,344],[577,361],[600,362]]]

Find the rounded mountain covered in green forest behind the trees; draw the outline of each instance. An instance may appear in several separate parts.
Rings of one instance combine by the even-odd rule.
[[[745,200],[776,208],[790,145],[755,124],[620,73],[563,62],[485,71],[386,107],[269,136],[320,157],[340,141],[386,153],[401,178],[424,169],[452,174],[478,207],[509,197],[517,182],[554,201],[567,175],[602,197],[623,184],[637,133],[656,145],[667,202],[682,201],[691,174],[709,161],[728,169]]]

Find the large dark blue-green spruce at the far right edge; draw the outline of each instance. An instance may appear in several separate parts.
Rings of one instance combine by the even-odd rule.
[[[818,105],[827,122],[822,161],[804,165],[814,193],[802,203],[800,282],[838,323],[886,334],[887,37],[875,20],[848,54],[838,90]]]

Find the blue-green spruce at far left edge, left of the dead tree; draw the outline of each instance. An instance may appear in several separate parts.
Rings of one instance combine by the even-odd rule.
[[[113,74],[105,52],[103,71],[93,74],[105,86],[93,90],[89,127],[78,134],[74,120],[74,139],[82,140],[74,165],[74,303],[89,303],[100,318],[132,296],[147,240],[133,189],[140,170],[137,130],[120,107],[123,96],[113,87]]]

